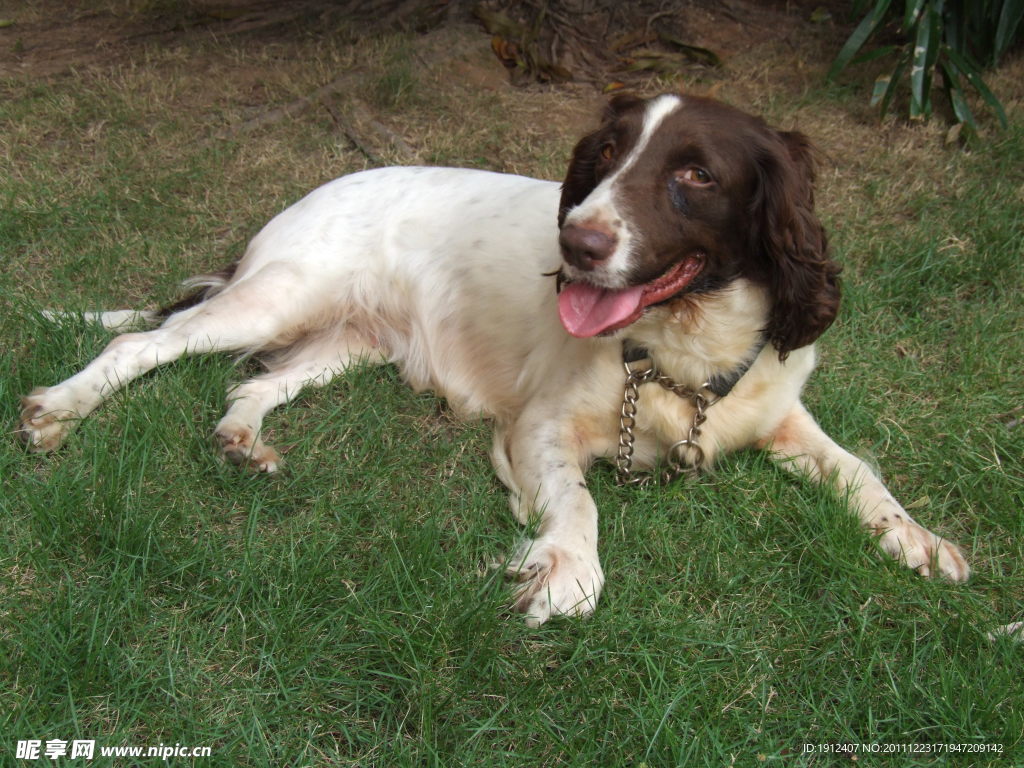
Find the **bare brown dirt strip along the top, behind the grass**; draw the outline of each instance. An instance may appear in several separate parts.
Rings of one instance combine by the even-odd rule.
[[[475,5],[415,0],[4,2],[0,3],[0,77],[45,77],[89,67],[111,67],[144,56],[154,46],[189,45],[209,38],[252,44],[287,43],[309,35],[338,34],[340,26],[348,27],[347,31],[355,36],[386,30],[408,32],[417,26],[413,23],[416,19],[408,15],[410,6],[432,10],[427,19],[430,27],[469,24],[476,17]],[[587,5],[581,3],[584,8]],[[836,8],[829,10],[829,5]],[[844,5],[809,0],[627,3],[622,7],[636,6],[632,13],[611,19],[601,17],[602,22],[616,25],[614,28],[604,25],[599,32],[581,29],[580,34],[586,39],[598,36],[613,43],[630,34],[649,35],[652,29],[668,28],[685,42],[728,60],[769,41],[796,47],[812,37],[835,44],[846,30],[844,23],[849,20],[842,18]],[[415,8],[412,10],[415,13]],[[417,18],[423,15],[421,12]],[[579,20],[586,26],[592,15],[581,14]],[[477,34],[486,39],[483,26],[474,26]]]

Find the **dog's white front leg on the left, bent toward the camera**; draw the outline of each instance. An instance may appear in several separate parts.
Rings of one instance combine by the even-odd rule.
[[[552,615],[597,606],[604,573],[597,555],[597,507],[584,482],[591,459],[563,414],[524,414],[496,446],[499,474],[516,518],[535,529],[511,558],[514,607],[538,627]]]

